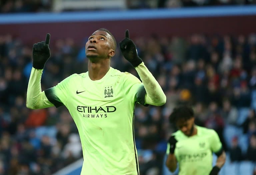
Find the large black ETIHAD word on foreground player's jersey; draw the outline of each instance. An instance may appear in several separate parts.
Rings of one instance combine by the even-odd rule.
[[[115,112],[115,106],[77,106],[77,111],[88,113]]]

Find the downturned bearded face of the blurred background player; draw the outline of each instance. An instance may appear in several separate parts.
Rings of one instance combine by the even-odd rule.
[[[179,119],[176,122],[176,126],[179,130],[181,130],[185,135],[191,136],[193,133],[193,128],[194,128],[194,121],[195,118],[192,117],[188,120],[185,119]]]

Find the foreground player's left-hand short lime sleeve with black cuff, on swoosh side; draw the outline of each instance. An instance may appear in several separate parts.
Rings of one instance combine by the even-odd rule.
[[[72,77],[73,75],[67,77],[66,79],[58,83],[56,86],[46,89],[44,91],[47,99],[56,107],[65,105],[68,99],[68,89]]]

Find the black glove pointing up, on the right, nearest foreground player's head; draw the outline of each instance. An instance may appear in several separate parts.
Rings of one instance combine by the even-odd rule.
[[[133,67],[137,67],[142,63],[138,56],[136,45],[129,38],[129,30],[125,31],[125,38],[119,43],[121,52],[126,60],[128,60]]]

